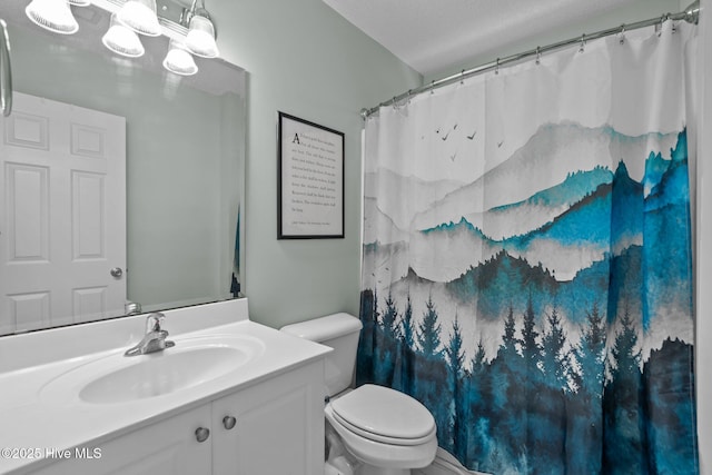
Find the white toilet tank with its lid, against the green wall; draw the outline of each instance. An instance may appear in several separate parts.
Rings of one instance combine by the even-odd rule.
[[[325,378],[328,396],[335,396],[350,387],[354,379],[362,326],[358,318],[342,313],[287,325],[281,331],[334,349],[326,355]]]

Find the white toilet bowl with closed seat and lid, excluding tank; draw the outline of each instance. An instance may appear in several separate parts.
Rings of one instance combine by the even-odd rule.
[[[435,458],[435,419],[406,394],[367,384],[332,400],[324,414],[362,463],[358,475],[407,475]]]

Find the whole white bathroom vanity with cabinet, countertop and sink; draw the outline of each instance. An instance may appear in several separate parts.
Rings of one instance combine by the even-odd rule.
[[[323,471],[329,348],[249,321],[240,299],[167,311],[176,346],[123,356],[145,319],[0,340],[0,362],[24,360],[0,363],[0,473]],[[48,355],[23,354],[28,338]]]

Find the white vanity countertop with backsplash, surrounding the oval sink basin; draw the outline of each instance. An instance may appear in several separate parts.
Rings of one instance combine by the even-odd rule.
[[[172,321],[171,314],[169,311],[166,313],[164,326],[165,329],[170,331],[169,339],[176,342],[176,347],[180,345],[180,340],[184,338],[237,335],[263,342],[265,345],[264,353],[247,364],[215,379],[175,393],[135,399],[129,403],[90,404],[79,400],[78,397],[69,400],[66,398],[63,400],[48,400],[46,396],[42,397],[40,394],[48,382],[72,368],[111,354],[122,355],[123,350],[140,339],[140,335],[135,334],[142,333],[146,316],[121,319],[125,321],[111,320],[103,323],[105,326],[113,325],[113,328],[105,333],[111,335],[109,339],[115,343],[123,342],[127,338],[126,336],[117,338],[117,334],[122,331],[128,331],[129,337],[135,338],[135,340],[129,345],[113,345],[101,352],[81,353],[82,345],[81,339],[77,339],[78,335],[100,334],[97,331],[87,333],[87,328],[83,325],[41,331],[40,334],[44,335],[38,334],[37,338],[27,338],[26,335],[18,336],[24,337],[23,344],[30,346],[28,352],[30,356],[22,354],[24,349],[17,349],[21,346],[18,346],[17,340],[11,340],[16,337],[0,338],[0,358],[12,357],[11,350],[14,350],[16,353],[20,352],[19,355],[14,355],[16,362],[18,359],[20,362],[32,362],[30,366],[22,363],[14,363],[11,367],[7,365],[0,366],[0,370],[2,370],[0,373],[0,449],[3,449],[3,454],[0,457],[0,473],[21,474],[39,468],[47,463],[47,461],[30,458],[22,451],[31,451],[31,457],[34,457],[36,455],[46,454],[47,451],[69,449],[87,444],[99,446],[101,442],[206,404],[238,388],[253,385],[296,366],[322,358],[330,352],[330,348],[323,345],[249,321],[246,315],[246,301],[244,303],[244,309],[240,308],[237,311],[237,314],[244,315],[236,317],[235,307],[230,307],[230,311],[225,313],[226,318],[201,318],[200,315],[205,316],[206,313],[210,313],[209,305],[220,304],[190,307],[187,309],[189,310],[187,314],[184,311]],[[243,306],[243,304],[237,305]],[[188,324],[179,321],[182,318]],[[194,319],[202,320],[210,326],[196,328]],[[233,323],[226,323],[226,319]],[[181,331],[180,329],[174,331],[171,323],[178,328],[190,329],[190,331]],[[95,329],[98,329],[101,324],[95,323],[91,325],[95,326]],[[140,331],[136,330],[137,325],[141,329]],[[122,327],[131,329],[122,330]],[[106,328],[101,329],[106,330]],[[56,334],[49,335],[52,331]],[[60,344],[60,342],[62,343]],[[68,342],[69,345],[67,345]],[[40,344],[49,346],[42,347]],[[89,346],[96,348],[101,344],[101,337],[96,337],[91,338]],[[32,346],[34,347],[32,348]],[[70,347],[73,349],[70,349]],[[22,348],[24,347],[22,346]],[[44,356],[32,356],[32,352],[42,353]],[[167,352],[170,352],[170,349],[167,349]],[[60,354],[62,357],[52,360],[56,354]],[[8,454],[4,452],[6,448],[18,449],[16,454],[11,455],[26,456],[11,456],[8,458]]]

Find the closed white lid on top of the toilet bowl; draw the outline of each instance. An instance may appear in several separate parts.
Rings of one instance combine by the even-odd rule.
[[[423,439],[435,431],[431,412],[411,396],[397,390],[363,385],[332,400],[334,414],[359,433],[395,439]]]

